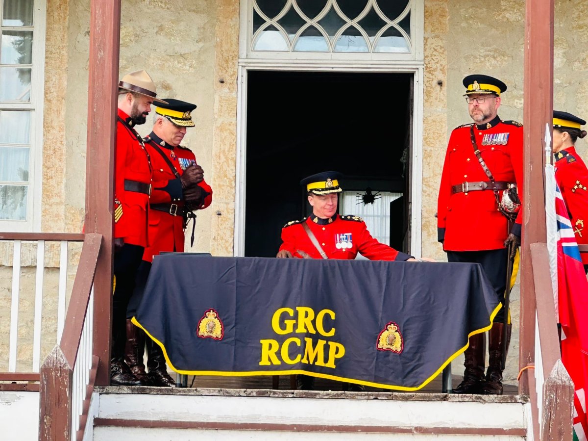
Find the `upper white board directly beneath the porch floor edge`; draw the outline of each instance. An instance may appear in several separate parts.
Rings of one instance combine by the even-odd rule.
[[[102,394],[99,417],[293,425],[526,427],[521,403]]]

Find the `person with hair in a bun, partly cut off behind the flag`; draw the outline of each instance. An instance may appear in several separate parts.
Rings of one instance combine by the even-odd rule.
[[[588,169],[576,152],[577,138],[586,136],[586,124],[568,112],[553,111],[555,179],[570,215],[584,271],[588,270]]]

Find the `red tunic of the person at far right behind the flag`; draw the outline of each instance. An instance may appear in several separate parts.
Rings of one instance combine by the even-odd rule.
[[[588,169],[573,146],[557,152],[555,159],[555,180],[566,203],[576,241],[588,244]],[[580,255],[584,265],[588,264],[588,253]]]

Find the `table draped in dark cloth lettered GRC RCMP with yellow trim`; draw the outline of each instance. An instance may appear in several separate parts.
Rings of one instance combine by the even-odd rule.
[[[414,391],[500,304],[479,264],[155,257],[133,321],[181,374],[307,374]]]

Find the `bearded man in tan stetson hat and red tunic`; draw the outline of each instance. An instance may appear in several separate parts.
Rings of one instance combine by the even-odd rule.
[[[155,84],[145,71],[132,72],[119,82],[114,173],[114,276],[112,298],[111,384],[139,386],[124,362],[126,306],[135,287],[136,271],[148,246],[147,210],[151,194],[151,161],[141,136],[156,98]]]

